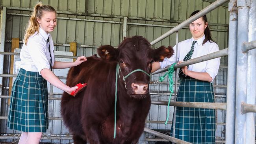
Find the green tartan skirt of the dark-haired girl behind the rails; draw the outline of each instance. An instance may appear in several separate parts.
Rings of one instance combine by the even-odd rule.
[[[176,101],[213,103],[212,83],[186,77],[180,83]],[[175,138],[193,144],[215,144],[215,109],[176,107]]]

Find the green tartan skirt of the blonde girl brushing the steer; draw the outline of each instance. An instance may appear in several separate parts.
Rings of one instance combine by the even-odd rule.
[[[47,82],[39,72],[20,68],[11,90],[7,127],[43,133],[48,129]]]

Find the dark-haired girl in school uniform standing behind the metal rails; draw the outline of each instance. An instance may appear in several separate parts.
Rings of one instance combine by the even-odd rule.
[[[198,12],[194,11],[191,16]],[[206,15],[191,22],[189,30],[191,39],[178,43],[178,64],[219,50],[219,46],[211,39]],[[175,51],[176,46],[173,49]],[[165,58],[163,62],[153,63],[152,71],[173,64],[175,55]],[[179,70],[181,82],[176,101],[215,102],[212,81],[218,73],[219,65],[220,58],[216,58],[182,67]],[[215,110],[177,107],[174,137],[193,144],[215,144]]]

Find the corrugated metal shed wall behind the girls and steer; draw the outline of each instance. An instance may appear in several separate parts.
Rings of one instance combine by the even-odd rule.
[[[0,0],[1,6],[11,7],[26,7],[32,8],[38,0]],[[91,20],[109,20],[115,22],[122,22],[122,18],[118,16],[128,17],[128,25],[126,36],[131,37],[133,35],[142,35],[153,41],[163,33],[171,30],[170,26],[176,26],[178,23],[186,20],[189,15],[195,10],[201,10],[211,3],[204,0],[41,0],[43,4],[50,4],[58,11],[71,11],[87,13],[89,16],[83,15],[64,15],[58,14],[58,17],[68,18],[81,18]],[[7,13],[29,14],[29,11],[17,11],[7,10]],[[96,17],[96,14],[104,15],[105,17]],[[19,37],[20,41],[24,38],[24,28],[28,22],[26,16],[19,15],[7,15],[6,20],[6,40],[11,40],[13,37]],[[136,20],[138,18],[139,20]],[[146,18],[148,18],[146,20]],[[207,14],[208,22],[210,23],[210,29],[212,30],[212,36],[220,49],[226,48],[228,44],[228,22],[229,14],[228,7],[221,6]],[[150,19],[150,20],[149,20]],[[132,23],[140,24],[155,24],[159,26],[138,26]],[[78,46],[77,55],[91,56],[96,54],[96,48],[91,46],[100,46],[104,44],[111,44],[112,46],[118,46],[122,41],[122,24],[113,24],[106,22],[91,22],[83,20],[64,20],[58,19],[58,25],[56,29],[51,33],[54,43],[69,44],[69,42],[77,42]],[[191,37],[188,28],[184,28],[179,31],[178,41],[183,41]],[[170,37],[165,38],[163,41],[158,42],[153,46],[157,48],[161,45],[176,44],[176,35],[173,34]],[[21,48],[22,44],[20,44]],[[6,42],[5,51],[11,50],[11,44]],[[55,46],[56,51],[69,51],[69,46]],[[4,59],[5,67],[4,73],[9,73],[9,56]],[[227,66],[227,58],[221,58],[221,65]],[[220,68],[219,75],[215,80],[215,85],[226,85],[226,68]],[[159,75],[154,76],[155,79]],[[167,82],[167,81],[166,81]],[[4,79],[4,83],[9,83],[7,78]],[[151,85],[152,92],[165,93],[165,95],[151,95],[152,100],[168,100],[168,87],[169,85]],[[7,92],[7,90],[5,90]],[[216,88],[217,93],[216,102],[225,102],[226,100],[226,88]],[[55,97],[60,95],[55,94]],[[2,101],[2,105],[6,105],[6,101]],[[59,114],[59,102],[50,101],[50,117],[60,117]],[[7,116],[6,107],[2,107],[1,116]],[[148,119],[150,121],[164,121],[166,117],[166,106],[152,105]],[[218,121],[224,123],[225,111],[218,110]],[[4,114],[4,115],[3,115]],[[170,118],[172,120],[173,108],[171,108]],[[16,133],[16,131],[9,131],[6,129],[6,120],[1,120],[0,133]],[[63,126],[61,120],[52,120],[51,134],[66,134],[67,129]],[[164,124],[148,124],[152,129],[170,129],[171,124],[165,126]],[[224,137],[222,131],[223,126],[217,126],[217,137]],[[51,141],[51,140],[46,140]],[[69,142],[69,140],[53,140],[52,142]]]

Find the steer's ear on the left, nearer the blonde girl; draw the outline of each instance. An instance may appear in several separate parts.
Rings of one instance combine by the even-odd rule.
[[[117,60],[118,50],[113,46],[110,46],[110,45],[100,46],[97,51],[98,51],[98,55],[100,55],[102,59],[105,59],[107,61]]]

